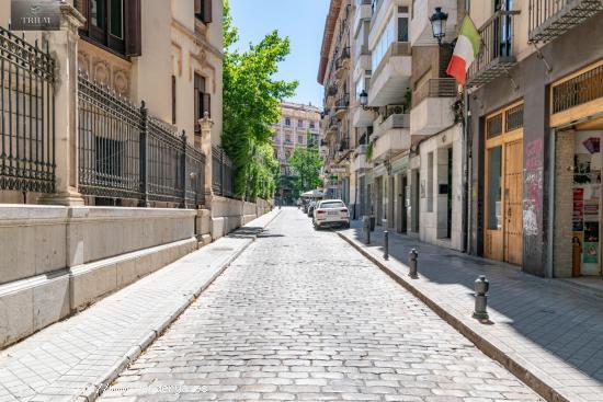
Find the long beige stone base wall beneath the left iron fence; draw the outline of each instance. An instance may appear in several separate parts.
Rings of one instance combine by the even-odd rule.
[[[0,205],[0,349],[270,211]]]

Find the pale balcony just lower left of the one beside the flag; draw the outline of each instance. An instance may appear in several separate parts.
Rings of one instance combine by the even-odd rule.
[[[375,128],[372,162],[384,161],[410,149],[410,115],[392,114]]]

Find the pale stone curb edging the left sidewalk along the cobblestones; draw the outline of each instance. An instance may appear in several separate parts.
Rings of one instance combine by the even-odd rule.
[[[90,383],[79,397],[76,397],[75,401],[92,402],[96,400],[105,391],[105,389],[109,388],[115,379],[117,379],[120,374],[122,374],[122,371],[124,371],[129,364],[134,363],[159,336],[161,336],[161,334],[180,318],[180,315],[201,296],[201,294],[207,289],[214,280],[216,280],[226,271],[226,268],[228,268],[230,264],[232,264],[232,262],[237,260],[243,251],[246,251],[247,248],[249,248],[258,239],[258,234],[265,230],[265,228],[268,228],[274,219],[278,217],[278,215],[281,215],[281,210],[277,210],[276,214],[274,214],[274,217],[272,217],[261,229],[257,230],[249,237],[248,242],[226,259],[226,261],[218,269],[216,269],[209,279],[201,285],[192,295],[190,295],[186,300],[173,311],[173,313],[161,321],[155,329],[151,329],[147,335],[140,338],[138,345],[133,346],[128,352],[126,352],[125,355],[117,360],[105,375],[96,380],[95,383]]]

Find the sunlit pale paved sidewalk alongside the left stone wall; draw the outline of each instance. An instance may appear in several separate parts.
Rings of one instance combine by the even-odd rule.
[[[0,352],[0,402],[94,400],[277,215],[269,213]]]

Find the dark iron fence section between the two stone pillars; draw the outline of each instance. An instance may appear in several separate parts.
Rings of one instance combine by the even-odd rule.
[[[205,156],[174,128],[79,74],[79,188],[82,195],[169,202],[204,202]]]

